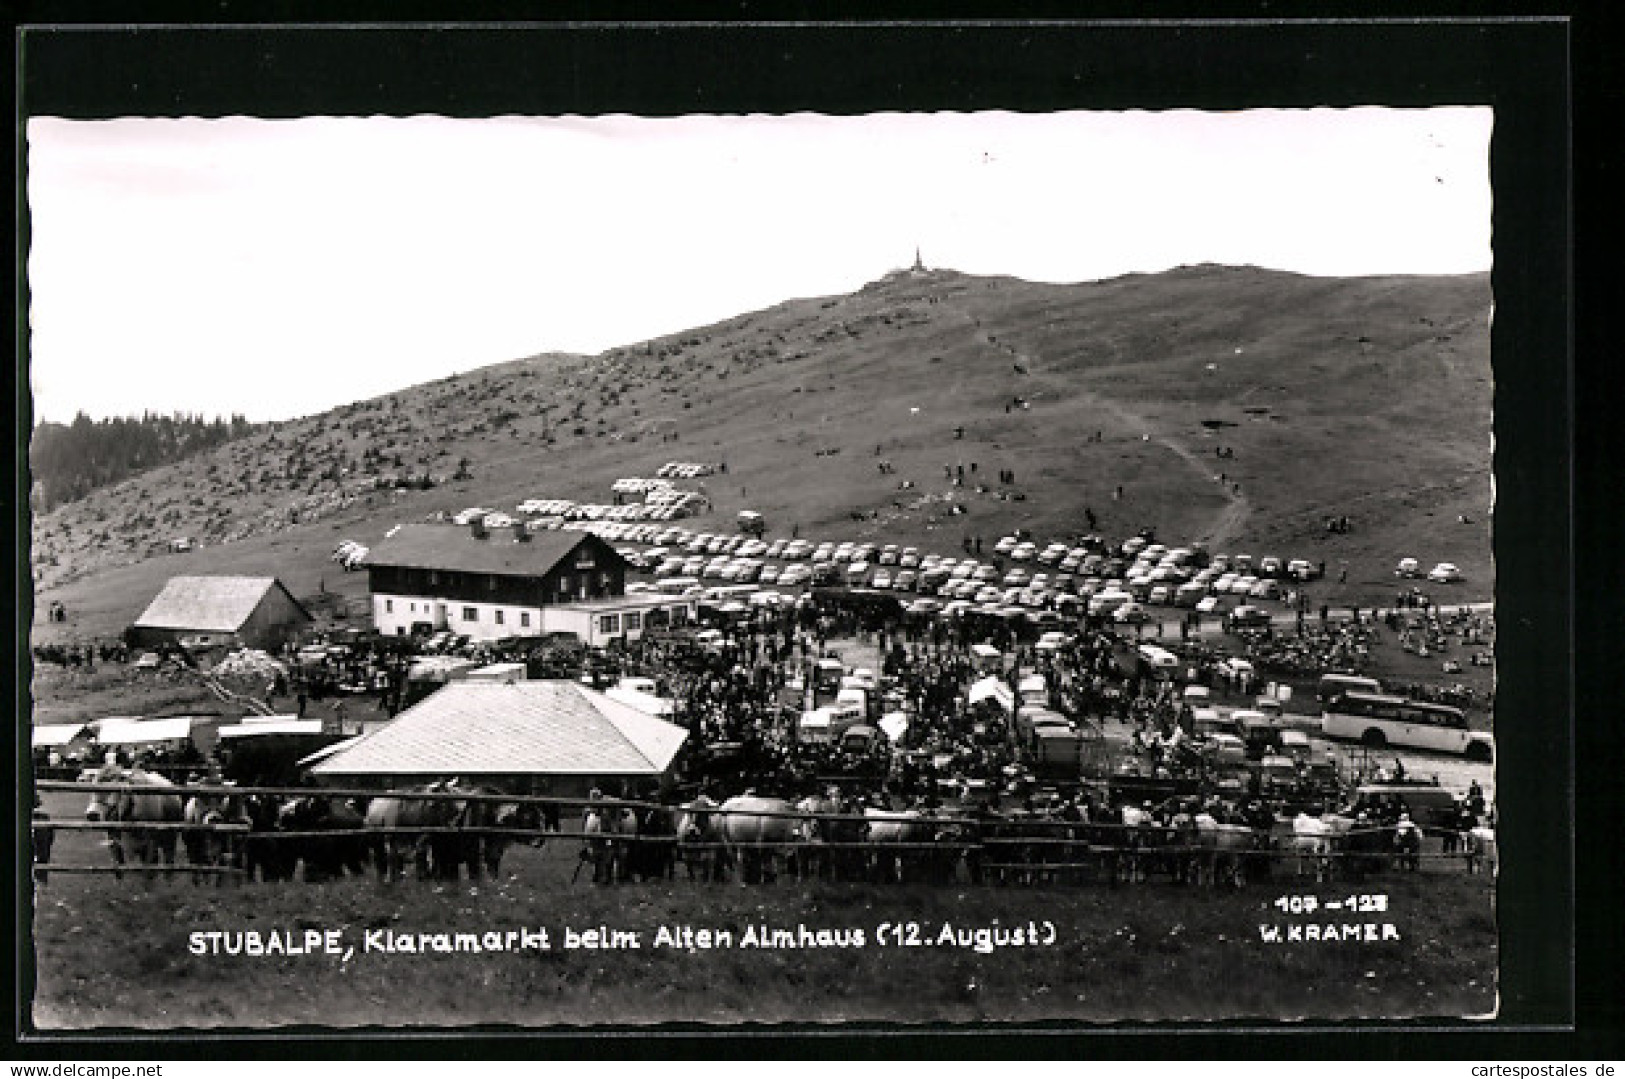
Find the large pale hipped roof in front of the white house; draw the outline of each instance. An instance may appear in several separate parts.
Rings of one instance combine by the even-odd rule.
[[[317,775],[660,775],[687,731],[574,681],[452,682]]]

